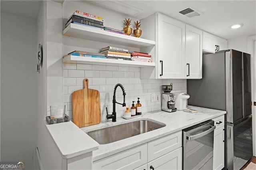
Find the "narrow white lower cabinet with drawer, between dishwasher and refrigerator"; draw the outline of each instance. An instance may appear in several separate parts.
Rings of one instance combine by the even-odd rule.
[[[212,119],[216,125],[213,143],[213,170],[224,168],[224,115]]]

